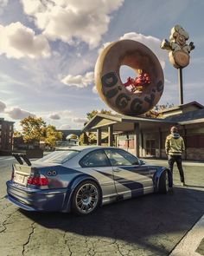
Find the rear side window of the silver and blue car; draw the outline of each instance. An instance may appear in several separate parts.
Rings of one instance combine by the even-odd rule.
[[[101,149],[94,150],[88,154],[86,154],[80,160],[81,167],[108,167],[110,166],[110,162],[105,154],[105,152]]]

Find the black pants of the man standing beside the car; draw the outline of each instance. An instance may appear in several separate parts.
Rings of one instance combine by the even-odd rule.
[[[172,175],[169,175],[169,187],[173,186],[173,167],[174,163],[176,162],[179,174],[180,174],[180,181],[184,182],[184,174],[182,169],[182,155],[168,155],[168,162],[169,162],[169,169]]]

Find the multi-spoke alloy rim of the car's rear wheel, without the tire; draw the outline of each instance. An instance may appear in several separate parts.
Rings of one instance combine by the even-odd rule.
[[[99,192],[95,185],[86,183],[78,190],[75,203],[80,213],[91,213],[99,201]]]

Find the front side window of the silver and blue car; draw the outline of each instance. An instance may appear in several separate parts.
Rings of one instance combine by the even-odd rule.
[[[139,164],[137,157],[121,149],[105,149],[105,154],[113,167]]]

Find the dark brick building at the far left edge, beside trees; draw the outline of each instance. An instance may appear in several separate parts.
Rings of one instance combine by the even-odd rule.
[[[14,133],[14,121],[0,118],[0,155],[11,154]]]

